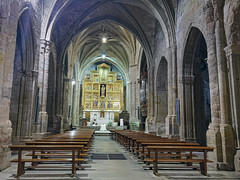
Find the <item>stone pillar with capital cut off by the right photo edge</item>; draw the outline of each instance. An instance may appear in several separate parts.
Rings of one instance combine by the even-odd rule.
[[[237,152],[234,157],[235,170],[240,171],[240,51],[239,46],[229,45],[225,49],[228,61],[228,78],[232,109],[232,123],[236,135]]]

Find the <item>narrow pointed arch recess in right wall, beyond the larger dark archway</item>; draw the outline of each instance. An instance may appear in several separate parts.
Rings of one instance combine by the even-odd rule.
[[[164,135],[166,133],[165,119],[168,115],[168,63],[162,57],[156,79],[156,127],[157,134]]]

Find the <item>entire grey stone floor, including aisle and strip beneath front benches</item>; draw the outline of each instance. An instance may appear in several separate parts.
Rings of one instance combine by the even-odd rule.
[[[118,143],[112,141],[109,136],[95,136],[91,153],[94,154],[123,154],[126,160],[95,160],[89,157],[85,170],[78,170],[75,177],[70,176],[71,169],[36,169],[26,170],[18,179],[22,180],[166,180],[166,179],[239,179],[240,173],[229,171],[217,171],[208,167],[209,176],[203,176],[193,170],[159,170],[160,176],[155,176],[152,170],[144,170],[143,164],[125,151]],[[13,155],[12,158],[14,158]],[[70,164],[69,164],[70,167]],[[13,180],[17,170],[17,164],[0,172],[0,180]]]

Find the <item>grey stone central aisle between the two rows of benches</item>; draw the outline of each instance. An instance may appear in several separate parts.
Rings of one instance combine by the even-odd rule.
[[[87,179],[93,180],[154,180],[159,179],[152,175],[152,171],[145,171],[137,160],[124,151],[124,149],[115,141],[110,139],[110,136],[95,136],[92,151],[93,159],[87,165],[91,168],[86,168],[88,174]],[[111,160],[111,155],[123,155],[125,160]],[[96,158],[99,158],[97,160]],[[106,158],[107,157],[107,158]],[[101,158],[107,159],[102,160]],[[79,171],[81,172],[81,171]],[[80,176],[81,177],[81,176]]]

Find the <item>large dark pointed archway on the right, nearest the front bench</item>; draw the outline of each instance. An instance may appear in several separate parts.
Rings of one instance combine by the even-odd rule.
[[[211,121],[207,45],[203,34],[192,28],[183,61],[183,136],[206,145],[206,131]]]

